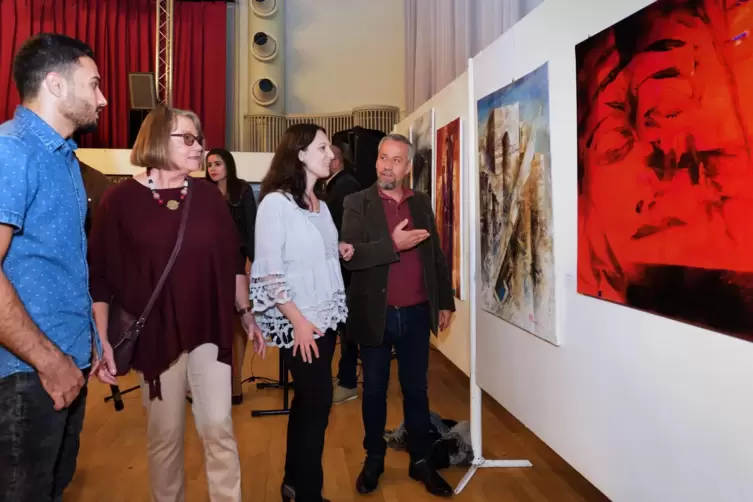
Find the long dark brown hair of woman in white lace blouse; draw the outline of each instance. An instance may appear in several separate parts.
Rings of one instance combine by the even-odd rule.
[[[327,133],[316,124],[295,124],[285,131],[277,145],[272,164],[261,181],[259,201],[272,192],[285,192],[293,196],[298,207],[308,209],[304,201],[306,193],[306,170],[298,154],[314,142],[316,133]],[[321,197],[321,183],[314,185],[314,194]]]

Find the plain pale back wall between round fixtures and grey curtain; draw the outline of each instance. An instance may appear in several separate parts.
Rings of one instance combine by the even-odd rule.
[[[405,103],[402,0],[285,0],[285,112]]]

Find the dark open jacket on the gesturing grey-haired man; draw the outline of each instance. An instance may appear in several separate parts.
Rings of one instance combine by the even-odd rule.
[[[408,199],[413,228],[431,236],[418,245],[429,297],[430,326],[438,331],[439,311],[455,310],[452,281],[439,246],[439,235],[429,196],[416,192]],[[353,245],[353,258],[345,263],[352,272],[348,288],[348,338],[359,344],[379,345],[384,338],[387,313],[387,276],[391,263],[399,260],[387,228],[382,200],[376,185],[345,198],[340,239]]]

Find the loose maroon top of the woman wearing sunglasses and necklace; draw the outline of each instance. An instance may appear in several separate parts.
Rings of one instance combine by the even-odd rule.
[[[159,190],[178,199],[180,188]],[[191,212],[178,257],[134,351],[133,368],[149,382],[150,399],[161,397],[159,375],[183,352],[213,343],[230,364],[235,316],[235,276],[245,273],[238,232],[213,184],[194,179]],[[117,297],[139,316],[157,285],[178,236],[183,204],[175,211],[130,179],[102,199],[89,245],[95,302]]]

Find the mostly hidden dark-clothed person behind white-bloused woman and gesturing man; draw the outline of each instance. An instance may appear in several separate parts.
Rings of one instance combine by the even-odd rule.
[[[325,186],[325,201],[329,212],[332,214],[332,220],[335,222],[337,232],[342,233],[343,221],[343,202],[345,197],[361,190],[361,184],[346,168],[343,159],[342,150],[336,145],[332,145],[332,153],[335,158],[330,164],[330,177]],[[342,269],[343,282],[347,291],[350,284],[350,272],[348,269]],[[341,334],[345,331],[345,326],[340,326]],[[332,404],[344,403],[358,398],[358,345],[348,339],[347,336],[340,337],[340,362],[337,368],[337,386],[332,393]]]

